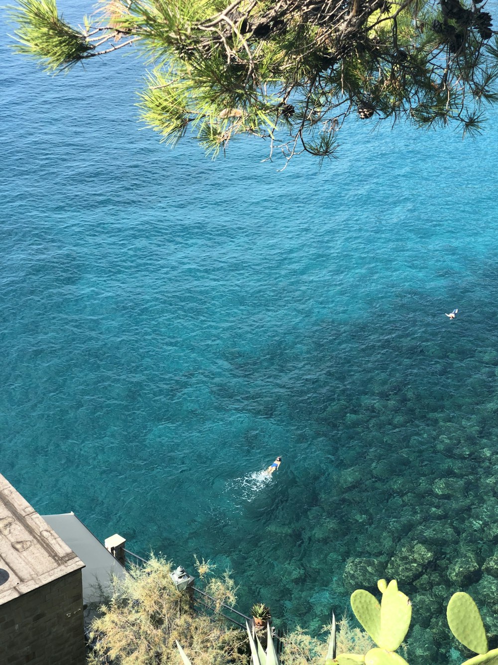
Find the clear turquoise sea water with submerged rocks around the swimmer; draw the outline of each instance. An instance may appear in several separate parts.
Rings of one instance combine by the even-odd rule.
[[[140,130],[132,55],[52,79],[4,33],[1,473],[102,540],[230,567],[285,625],[377,569],[419,642],[457,589],[491,622],[498,114],[463,142],[353,122],[321,170],[210,162]]]

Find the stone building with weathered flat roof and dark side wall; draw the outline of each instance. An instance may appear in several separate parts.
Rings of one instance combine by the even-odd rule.
[[[83,665],[84,563],[0,475],[0,663]]]

